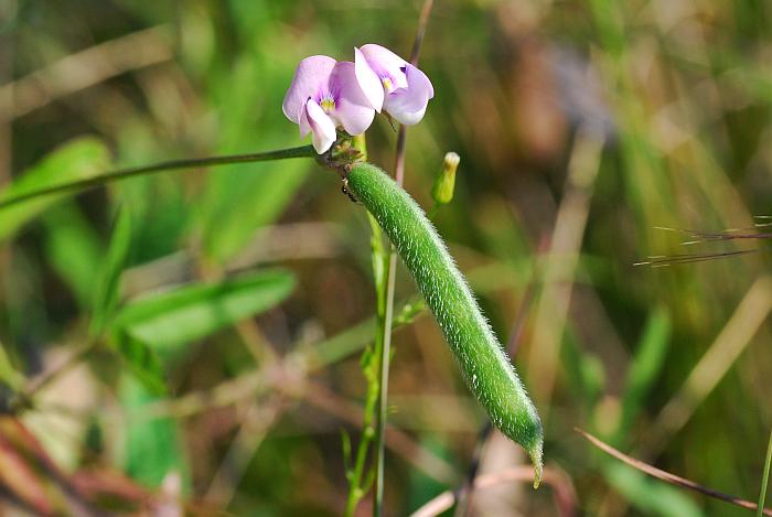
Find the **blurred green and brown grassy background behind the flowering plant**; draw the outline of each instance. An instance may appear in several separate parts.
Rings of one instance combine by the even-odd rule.
[[[297,146],[281,112],[297,63],[351,60],[365,43],[407,56],[420,7],[0,0],[0,184]],[[435,6],[421,68],[436,97],[408,131],[406,189],[430,206],[442,157],[461,155],[435,222],[497,334],[519,335],[514,360],[554,475],[538,492],[527,480],[478,492],[475,515],[559,515],[556,491],[576,493],[576,515],[741,511],[646,478],[575,427],[758,497],[772,426],[768,255],[632,263],[763,247],[684,247],[656,227],[749,228],[770,214],[771,32],[763,0]],[[390,170],[394,129],[378,117],[367,139]],[[0,240],[2,400],[85,499],[343,510],[341,435],[361,434],[375,295],[367,219],[334,174],[293,160],[140,177],[3,211]],[[400,269],[397,300],[414,294]],[[484,419],[429,315],[394,343],[386,513],[407,515],[461,483]],[[4,461],[24,472],[0,475],[9,505],[77,514],[50,467]],[[524,462],[494,437],[482,472]]]

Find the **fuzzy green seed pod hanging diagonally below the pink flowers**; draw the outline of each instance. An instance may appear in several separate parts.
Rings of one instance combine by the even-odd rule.
[[[542,421],[443,240],[412,197],[377,166],[354,164],[347,190],[394,244],[442,328],[467,385],[493,423],[530,455],[537,486]]]

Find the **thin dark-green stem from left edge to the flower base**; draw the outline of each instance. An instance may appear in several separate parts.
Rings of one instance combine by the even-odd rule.
[[[289,158],[315,158],[317,153],[311,146],[302,146],[299,148],[279,149],[277,151],[258,152],[251,154],[230,154],[225,157],[208,157],[208,158],[192,158],[183,160],[170,160],[150,165],[141,165],[128,169],[119,169],[116,171],[106,172],[96,176],[78,180],[62,185],[52,185],[44,189],[24,192],[17,195],[11,195],[0,201],[0,208],[6,208],[19,203],[30,201],[36,197],[42,197],[52,194],[72,194],[74,192],[87,191],[106,183],[114,181],[126,180],[129,177],[153,174],[162,171],[173,171],[179,169],[195,169],[214,165],[228,165],[232,163],[253,163],[265,162],[270,160],[286,160]]]

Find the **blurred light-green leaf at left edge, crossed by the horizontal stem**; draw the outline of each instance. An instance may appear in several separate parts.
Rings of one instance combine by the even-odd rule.
[[[92,177],[108,169],[109,163],[109,152],[100,140],[95,138],[72,140],[24,171],[0,194],[0,201]],[[72,194],[50,195],[0,211],[0,240],[13,236],[25,223],[69,195]]]

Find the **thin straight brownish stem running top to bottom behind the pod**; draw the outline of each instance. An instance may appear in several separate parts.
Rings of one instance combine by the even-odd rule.
[[[420,18],[418,19],[418,29],[416,39],[412,43],[410,52],[410,63],[418,65],[418,56],[423,43],[423,35],[433,7],[433,0],[425,0],[421,8]],[[399,186],[405,183],[405,149],[407,143],[407,129],[404,125],[399,125],[397,133],[397,149],[394,163],[394,179]],[[378,390],[378,421],[375,433],[375,452],[376,452],[376,470],[375,470],[375,500],[373,504],[373,515],[382,517],[384,511],[384,465],[386,453],[386,420],[388,417],[388,370],[392,358],[392,319],[394,317],[394,289],[397,279],[397,254],[394,245],[388,248],[388,266],[386,269],[386,310],[384,311],[383,324],[380,327],[383,347],[380,349],[380,378]]]

